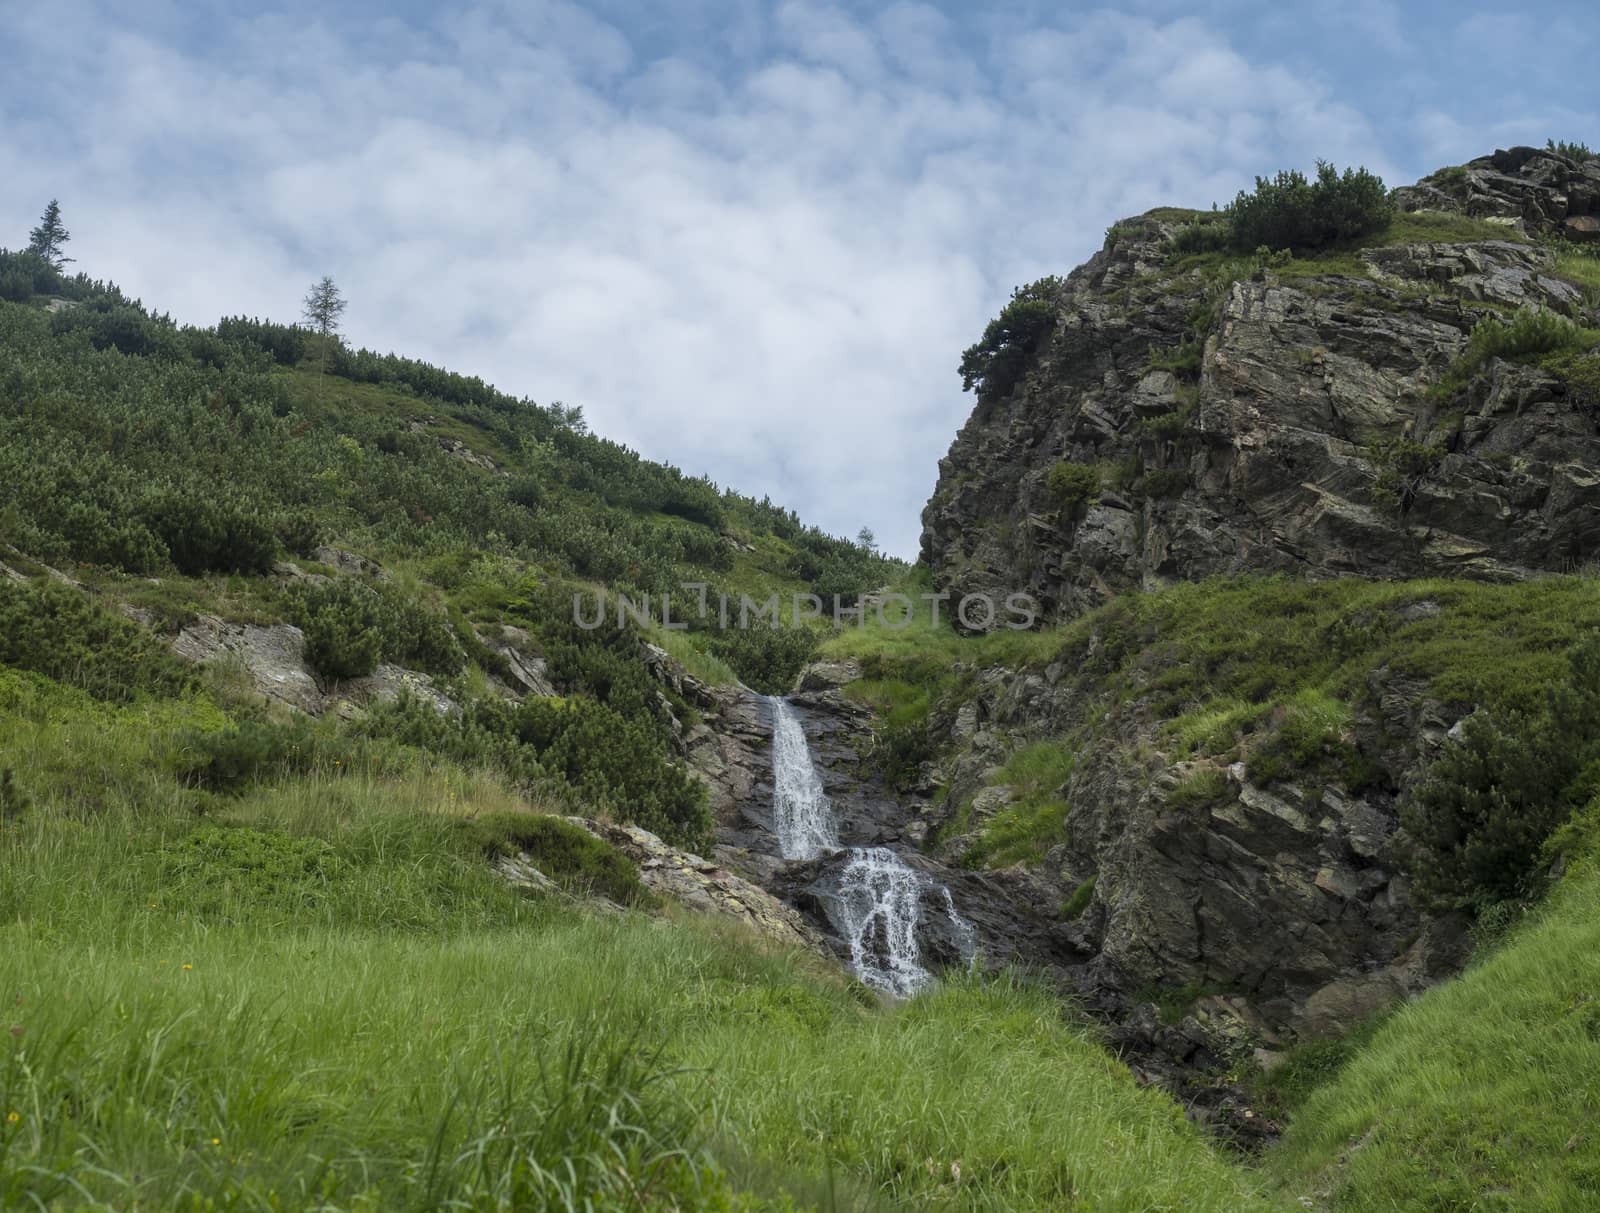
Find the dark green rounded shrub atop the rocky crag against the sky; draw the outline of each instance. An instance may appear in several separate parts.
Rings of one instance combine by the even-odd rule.
[[[1322,248],[1378,232],[1392,218],[1381,178],[1365,168],[1339,174],[1326,160],[1317,162],[1315,181],[1296,170],[1256,178],[1254,192],[1240,190],[1227,208],[1234,246],[1245,251]]]

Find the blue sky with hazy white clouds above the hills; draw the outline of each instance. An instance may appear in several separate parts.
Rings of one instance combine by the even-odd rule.
[[[1317,158],[1600,147],[1579,3],[0,0],[0,246],[478,374],[915,555],[1011,290]]]

